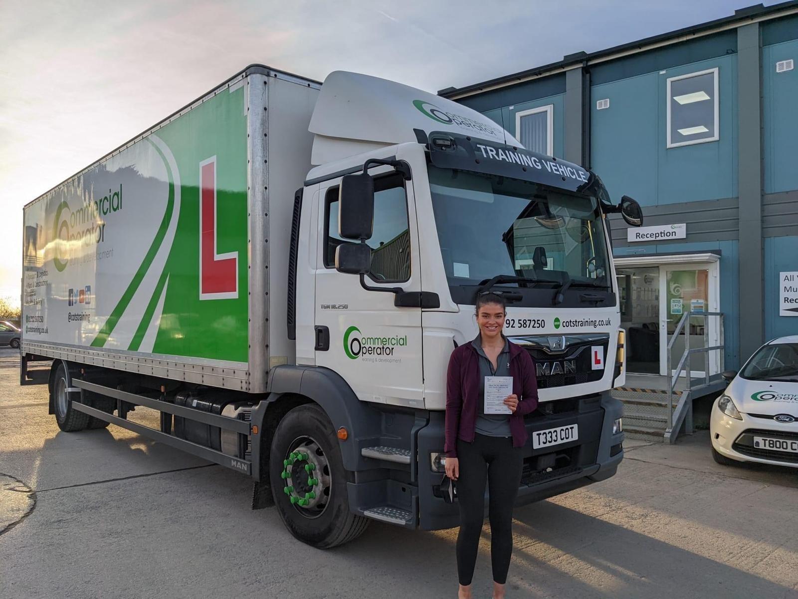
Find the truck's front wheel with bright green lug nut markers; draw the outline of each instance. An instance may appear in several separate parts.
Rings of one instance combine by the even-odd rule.
[[[295,407],[275,430],[271,489],[282,522],[300,541],[329,549],[358,538],[368,518],[350,512],[338,437],[322,408]]]

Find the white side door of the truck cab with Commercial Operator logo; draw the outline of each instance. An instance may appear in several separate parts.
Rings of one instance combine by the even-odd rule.
[[[421,291],[413,181],[385,166],[374,177],[371,272],[366,284]],[[337,272],[338,186],[322,184],[318,210],[315,358],[346,379],[362,401],[423,407],[421,308],[395,307],[391,292],[367,291]]]

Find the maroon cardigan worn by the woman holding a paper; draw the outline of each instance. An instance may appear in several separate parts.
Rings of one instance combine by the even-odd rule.
[[[535,362],[529,352],[509,342],[512,392],[518,395],[516,411],[510,415],[512,446],[523,447],[527,442],[527,428],[523,416],[538,407],[538,380]],[[456,347],[449,358],[446,373],[446,443],[448,458],[457,457],[457,439],[473,442],[476,414],[480,402],[480,355],[472,344]]]

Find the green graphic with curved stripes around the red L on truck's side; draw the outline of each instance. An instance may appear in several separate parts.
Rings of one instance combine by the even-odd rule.
[[[155,237],[148,242],[148,252],[92,346],[104,347],[120,319],[128,316],[131,300],[153,268],[153,260],[164,244],[172,220],[176,219],[166,263],[157,274],[157,283],[128,350],[139,350],[163,296],[153,353],[247,362],[249,286],[244,89],[216,94],[158,129],[155,136],[167,146],[171,156],[165,155],[164,149],[149,137],[140,143],[152,145],[168,173],[163,216]],[[174,164],[170,164],[172,157]],[[176,189],[177,180],[179,189]],[[206,180],[213,187],[210,196]],[[177,212],[176,192],[180,192]],[[212,204],[208,204],[209,201]],[[210,221],[210,225],[203,221],[202,232],[201,211]],[[202,256],[201,244],[204,244]],[[208,250],[210,256],[206,256],[206,247],[211,248]],[[203,268],[207,272],[200,272]],[[222,270],[227,272],[227,288],[219,287]]]

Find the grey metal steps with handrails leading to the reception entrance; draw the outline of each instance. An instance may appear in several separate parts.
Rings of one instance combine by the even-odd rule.
[[[703,347],[690,347],[690,335],[683,335],[685,350],[674,368],[674,343],[685,331],[685,323],[689,322],[691,316],[705,318],[704,344]],[[719,320],[718,345],[709,345],[709,317]],[[717,371],[723,371],[723,347],[722,312],[685,312],[668,343],[667,372],[670,375],[627,375],[626,387],[612,390],[613,397],[623,403],[623,430],[626,437],[674,443],[682,430],[692,434],[693,399],[725,388],[726,383],[720,374],[709,374],[711,351],[720,352],[720,367]],[[704,355],[704,373],[700,378],[693,378],[690,373],[689,358],[695,354]]]

